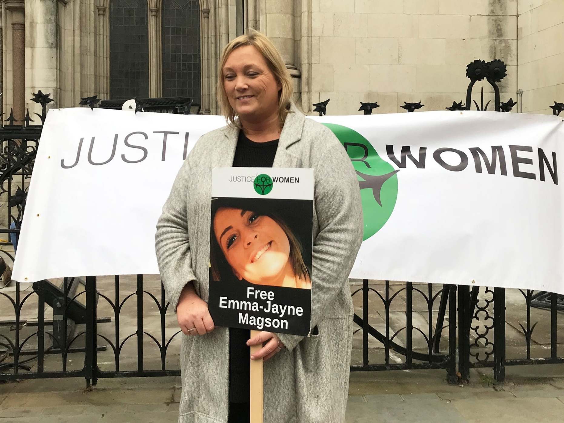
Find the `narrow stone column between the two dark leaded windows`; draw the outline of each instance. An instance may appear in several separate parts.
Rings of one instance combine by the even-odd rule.
[[[148,0],[149,5],[149,96],[162,95],[161,0]]]

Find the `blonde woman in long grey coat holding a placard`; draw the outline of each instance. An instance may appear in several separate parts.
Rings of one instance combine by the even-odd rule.
[[[219,65],[228,125],[203,135],[184,161],[157,223],[158,265],[182,332],[180,423],[249,421],[248,345],[263,345],[268,423],[345,421],[352,339],[347,277],[362,241],[356,175],[333,133],[290,100],[292,80],[261,33],[233,39]],[[208,311],[211,170],[313,168],[311,333],[214,327]]]

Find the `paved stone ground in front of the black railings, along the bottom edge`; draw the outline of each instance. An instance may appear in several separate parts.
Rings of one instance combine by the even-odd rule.
[[[559,422],[564,416],[564,369],[510,368],[504,384],[473,371],[451,386],[444,371],[351,373],[347,423]],[[540,376],[539,376],[540,375]],[[0,385],[0,423],[166,423],[178,419],[179,380],[122,378],[36,380]]]

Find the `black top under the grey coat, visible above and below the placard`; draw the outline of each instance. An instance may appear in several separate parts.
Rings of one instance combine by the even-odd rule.
[[[255,143],[239,131],[233,168],[272,168],[277,148],[277,139]],[[229,329],[229,401],[232,403],[249,402],[250,347],[246,346],[249,338],[249,329]]]

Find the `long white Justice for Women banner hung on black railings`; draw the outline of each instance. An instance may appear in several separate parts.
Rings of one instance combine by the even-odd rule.
[[[358,174],[365,240],[351,277],[564,293],[561,118],[313,118],[340,138]],[[223,125],[218,116],[51,110],[14,279],[158,273],[162,204],[199,136]]]

